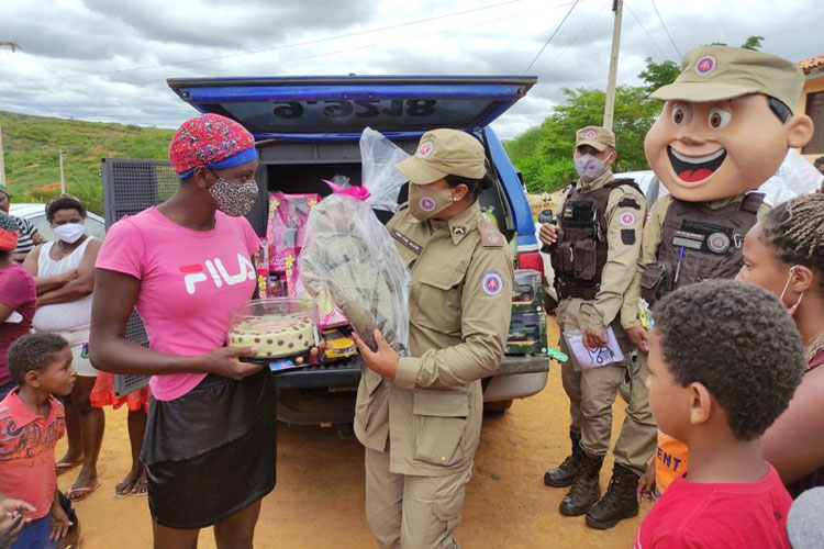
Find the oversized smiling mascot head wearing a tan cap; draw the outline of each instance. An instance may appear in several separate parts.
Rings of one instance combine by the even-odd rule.
[[[780,57],[704,46],[683,57],[675,82],[652,97],[665,101],[644,142],[649,166],[677,199],[709,202],[758,189],[813,122],[794,113],[801,69]]]

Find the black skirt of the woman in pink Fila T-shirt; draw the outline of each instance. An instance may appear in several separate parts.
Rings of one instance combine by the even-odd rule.
[[[156,523],[211,526],[275,489],[276,400],[268,369],[241,381],[209,374],[179,399],[152,399],[141,461]]]

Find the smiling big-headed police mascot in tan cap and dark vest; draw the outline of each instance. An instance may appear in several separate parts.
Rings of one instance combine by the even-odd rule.
[[[656,301],[687,284],[735,278],[741,269],[744,236],[769,210],[753,191],[776,173],[789,148],[812,137],[810,117],[793,113],[803,85],[801,69],[786,59],[704,46],[688,52],[676,81],[653,93],[665,104],[644,148],[669,194],[652,208],[621,312],[641,351],[638,362],[646,365],[647,330],[655,321],[649,307]],[[667,461],[687,462],[684,445],[658,436]],[[655,482],[654,470],[650,466],[645,492]]]

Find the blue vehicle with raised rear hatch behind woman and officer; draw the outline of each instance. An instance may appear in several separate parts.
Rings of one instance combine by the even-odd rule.
[[[516,268],[543,272],[535,224],[517,172],[489,124],[523,98],[527,76],[346,76],[169,79],[181,100],[200,112],[236,120],[257,141],[259,198],[248,220],[266,236],[268,193],[329,194],[323,179],[336,175],[360,183],[358,139],[367,126],[414,154],[427,130],[453,127],[486,142],[498,183],[479,200],[508,239]],[[168,163],[104,158],[105,222],[111,225],[169,198],[178,179]],[[405,200],[401,190],[400,202]],[[386,223],[390,214],[376,212]],[[127,336],[145,345],[135,314]],[[293,424],[348,425],[354,417],[360,359],[278,373],[278,419]],[[508,356],[483,380],[488,411],[503,412],[513,399],[544,389],[546,356]],[[124,377],[119,392],[145,382]]]

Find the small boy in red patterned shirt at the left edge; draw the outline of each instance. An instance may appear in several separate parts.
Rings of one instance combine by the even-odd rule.
[[[21,337],[9,349],[9,373],[20,386],[0,402],[0,493],[34,507],[12,548],[52,548],[71,526],[60,506],[54,457],[66,421],[52,396],[68,395],[75,384],[68,343],[55,334]]]

